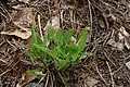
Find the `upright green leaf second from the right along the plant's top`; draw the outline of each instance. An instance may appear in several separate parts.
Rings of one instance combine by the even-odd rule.
[[[74,30],[69,29],[67,32],[64,33],[64,45],[67,45],[70,42],[70,38],[73,36]]]

